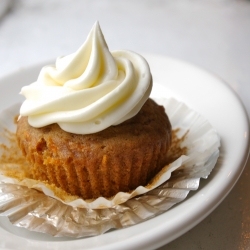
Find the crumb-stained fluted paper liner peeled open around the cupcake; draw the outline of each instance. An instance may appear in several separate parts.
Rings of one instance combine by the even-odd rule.
[[[207,178],[215,166],[220,139],[211,124],[184,103],[172,98],[156,101],[165,107],[176,135],[183,138],[181,147],[186,148],[186,155],[167,165],[150,185],[130,193],[120,192],[111,199],[84,201],[64,197],[61,200],[44,183],[1,175],[0,215],[29,230],[83,237],[134,225],[184,200],[190,190],[199,187],[200,178]],[[13,119],[19,107],[20,104],[14,105],[0,114],[0,132],[6,128],[15,131]],[[6,138],[0,140],[8,146]],[[9,165],[18,171],[18,165]],[[0,170],[9,165],[0,162]]]

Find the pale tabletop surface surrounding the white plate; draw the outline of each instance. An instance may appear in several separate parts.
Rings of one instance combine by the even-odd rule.
[[[74,52],[99,20],[111,50],[203,67],[226,81],[250,114],[250,1],[1,0],[0,15],[0,77]],[[214,212],[160,249],[250,249],[249,176],[250,161]]]

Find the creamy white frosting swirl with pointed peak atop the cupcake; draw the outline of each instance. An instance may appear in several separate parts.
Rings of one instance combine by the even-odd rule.
[[[148,99],[152,77],[145,59],[110,52],[98,22],[85,43],[21,90],[20,115],[33,127],[52,123],[75,134],[95,133],[133,117]]]

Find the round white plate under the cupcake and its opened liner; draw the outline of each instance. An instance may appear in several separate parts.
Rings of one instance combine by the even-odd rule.
[[[226,197],[238,180],[249,150],[246,112],[235,93],[220,79],[188,63],[145,55],[155,85],[152,95],[173,96],[202,114],[221,136],[221,155],[212,174],[198,191],[156,218],[84,239],[53,238],[12,226],[0,218],[0,246],[8,249],[155,249],[182,235]],[[0,79],[0,111],[22,101],[21,86],[36,80],[45,64],[22,69]],[[160,96],[159,96],[160,97]]]

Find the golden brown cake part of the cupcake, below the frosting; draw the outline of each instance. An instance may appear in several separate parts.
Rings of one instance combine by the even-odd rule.
[[[148,99],[133,118],[94,134],[68,133],[57,124],[34,128],[22,117],[17,139],[34,179],[92,199],[146,185],[165,164],[171,124]]]

